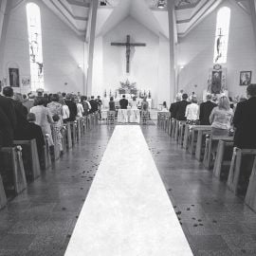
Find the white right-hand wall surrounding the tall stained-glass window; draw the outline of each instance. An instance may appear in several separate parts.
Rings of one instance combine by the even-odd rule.
[[[232,1],[226,0],[219,8],[231,9],[228,63],[228,89],[231,97],[246,95],[246,87],[239,85],[239,74],[252,70],[252,82],[256,82],[256,46],[250,16]],[[219,9],[218,8],[218,9]],[[179,73],[179,89],[189,94],[195,91],[202,98],[207,88],[209,69],[213,66],[214,34],[217,10],[214,10],[197,27],[180,39],[177,64],[184,65]],[[193,85],[197,84],[197,88]]]

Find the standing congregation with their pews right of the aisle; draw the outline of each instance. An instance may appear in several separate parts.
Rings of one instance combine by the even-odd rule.
[[[256,210],[256,84],[239,102],[206,98],[198,104],[195,96],[177,95],[170,112],[158,112],[157,125]]]

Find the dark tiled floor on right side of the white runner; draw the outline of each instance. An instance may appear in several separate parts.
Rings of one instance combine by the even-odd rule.
[[[194,256],[256,255],[256,213],[157,127],[142,128]]]

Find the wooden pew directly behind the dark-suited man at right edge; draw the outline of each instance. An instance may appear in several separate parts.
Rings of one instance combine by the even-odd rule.
[[[244,156],[250,156],[251,159],[253,159],[256,156],[256,150],[239,148],[233,149],[233,155],[229,169],[228,187],[234,193],[237,193],[239,178],[241,174],[242,160]],[[247,170],[243,171],[246,172]]]

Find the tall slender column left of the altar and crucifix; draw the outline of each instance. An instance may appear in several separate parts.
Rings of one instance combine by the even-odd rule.
[[[89,50],[88,50],[88,69],[87,69],[87,82],[85,92],[87,96],[91,96],[92,93],[92,77],[93,77],[93,55],[94,55],[94,43],[95,43],[95,30],[97,20],[97,9],[99,0],[93,0],[91,3],[91,15],[90,15],[90,35],[89,35]]]

